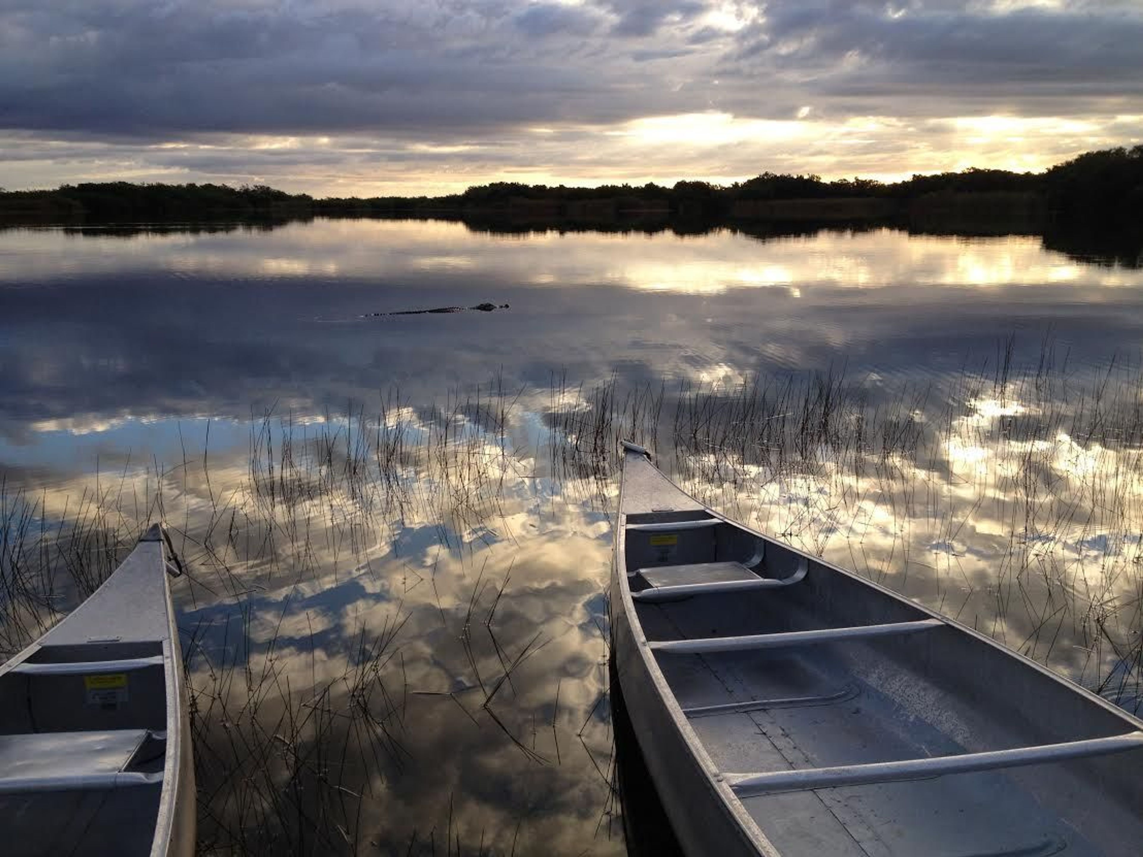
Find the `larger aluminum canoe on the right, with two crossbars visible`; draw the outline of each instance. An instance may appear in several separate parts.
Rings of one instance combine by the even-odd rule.
[[[686,854],[1143,854],[1143,721],[624,448],[613,666]]]

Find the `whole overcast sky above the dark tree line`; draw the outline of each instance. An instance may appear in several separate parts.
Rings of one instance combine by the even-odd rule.
[[[1143,0],[0,0],[0,186],[728,183],[1143,142]]]

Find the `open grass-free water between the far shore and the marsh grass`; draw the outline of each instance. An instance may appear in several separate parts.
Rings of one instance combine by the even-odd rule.
[[[1130,353],[1143,329],[1143,272],[1080,265],[1030,238],[496,237],[333,221],[18,230],[0,247],[0,435],[25,444],[131,415],[246,421],[277,402],[323,416],[394,383],[427,401],[497,373],[545,387],[565,371],[639,382],[845,359],[888,381],[938,377],[988,359],[1014,328],[1036,347],[1048,325],[1097,362]],[[511,309],[360,318],[483,301]]]

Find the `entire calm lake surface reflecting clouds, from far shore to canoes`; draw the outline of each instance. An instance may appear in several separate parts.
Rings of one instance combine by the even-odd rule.
[[[1029,237],[0,231],[0,571],[166,521],[205,851],[624,854],[617,436],[1134,710],[1141,342]]]

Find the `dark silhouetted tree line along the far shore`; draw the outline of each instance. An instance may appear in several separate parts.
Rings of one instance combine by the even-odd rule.
[[[1133,224],[1143,210],[1143,146],[1088,152],[1044,173],[966,169],[914,175],[902,182],[831,182],[816,175],[762,173],[718,185],[529,185],[494,182],[445,197],[368,199],[290,194],[265,185],[64,185],[54,191],[0,192],[0,218],[170,221],[210,217],[456,216],[610,222],[617,217],[672,219],[881,219],[894,216],[966,221],[996,211],[1034,214],[1045,223]]]

